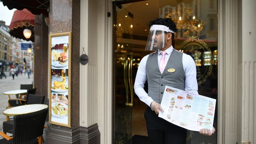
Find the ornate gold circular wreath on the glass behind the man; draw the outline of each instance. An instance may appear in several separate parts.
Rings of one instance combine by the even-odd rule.
[[[211,75],[211,72],[212,72],[212,65],[214,64],[214,60],[213,60],[213,57],[212,57],[212,51],[211,49],[207,46],[207,44],[203,41],[203,40],[200,40],[198,38],[198,36],[191,36],[191,37],[188,37],[187,40],[185,40],[183,43],[180,44],[180,49],[183,49],[184,46],[187,45],[187,43],[189,42],[198,42],[200,43],[207,51],[210,51],[211,52],[211,56],[210,56],[210,59],[211,59],[211,65],[209,65],[209,70],[207,72],[207,74],[205,75],[205,77],[200,80],[199,82],[197,82],[198,85],[201,85],[203,84],[206,79]]]

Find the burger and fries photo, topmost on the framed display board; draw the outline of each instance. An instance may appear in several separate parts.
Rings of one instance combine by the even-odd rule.
[[[51,45],[51,50],[52,69],[68,69],[68,44]]]

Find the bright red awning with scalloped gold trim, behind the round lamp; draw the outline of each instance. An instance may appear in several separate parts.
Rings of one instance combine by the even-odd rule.
[[[32,35],[29,38],[32,42],[34,42],[34,32],[33,28],[35,27],[35,15],[33,15],[27,9],[16,10],[13,13],[12,21],[9,26],[10,34],[16,38],[24,39],[26,38],[23,35],[23,30],[28,27],[32,31]]]

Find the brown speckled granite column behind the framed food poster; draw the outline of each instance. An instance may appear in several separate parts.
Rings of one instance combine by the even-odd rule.
[[[50,34],[72,32],[71,49],[71,128],[48,124],[47,144],[80,144],[79,56],[80,0],[50,0]],[[48,67],[47,67],[48,68]]]

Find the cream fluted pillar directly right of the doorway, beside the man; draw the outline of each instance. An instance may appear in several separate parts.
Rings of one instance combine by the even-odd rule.
[[[238,0],[218,0],[218,143],[238,136]],[[240,81],[241,83],[241,81]]]

